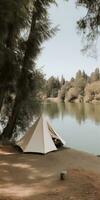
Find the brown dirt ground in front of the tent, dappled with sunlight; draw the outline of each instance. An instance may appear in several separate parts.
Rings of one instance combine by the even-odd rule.
[[[100,158],[72,149],[39,155],[0,147],[0,200],[12,199],[100,200]]]

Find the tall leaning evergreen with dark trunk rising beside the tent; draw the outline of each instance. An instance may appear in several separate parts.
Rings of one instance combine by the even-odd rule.
[[[41,51],[43,41],[54,35],[56,28],[50,28],[48,19],[48,7],[53,0],[37,0],[33,4],[33,15],[29,37],[26,41],[25,54],[23,57],[21,72],[18,79],[16,98],[12,113],[9,117],[7,126],[3,131],[3,137],[11,139],[16,127],[19,113],[24,102],[29,104],[29,98],[36,96],[36,58]],[[35,9],[34,9],[35,7]],[[31,99],[32,100],[32,99]],[[24,108],[25,109],[25,108]],[[27,114],[27,112],[26,112]]]

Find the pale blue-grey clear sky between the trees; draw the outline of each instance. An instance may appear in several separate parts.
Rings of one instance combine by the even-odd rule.
[[[49,41],[43,44],[43,50],[38,58],[38,66],[46,78],[50,76],[61,77],[66,80],[75,77],[81,69],[90,75],[96,67],[100,68],[100,56],[93,57],[83,55],[82,37],[77,33],[76,21],[84,16],[83,8],[76,8],[75,0],[57,0],[58,6],[52,6],[49,10],[53,25],[59,25],[60,30]],[[100,49],[98,49],[98,54]]]

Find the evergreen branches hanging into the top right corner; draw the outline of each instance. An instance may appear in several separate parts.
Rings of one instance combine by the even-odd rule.
[[[78,28],[87,41],[84,50],[90,49],[100,35],[100,1],[76,0],[77,6],[86,8],[86,14],[78,22]]]

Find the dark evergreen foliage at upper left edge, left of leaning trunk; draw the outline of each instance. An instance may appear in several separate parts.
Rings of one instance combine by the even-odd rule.
[[[0,1],[0,110],[8,93],[14,92],[22,59],[21,31],[29,26],[31,0]]]

